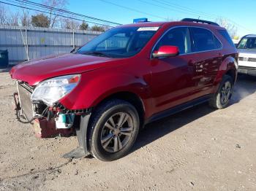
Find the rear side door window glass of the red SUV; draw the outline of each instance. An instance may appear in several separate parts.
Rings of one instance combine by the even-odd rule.
[[[222,48],[221,42],[211,31],[205,28],[189,28],[192,34],[192,51],[201,52],[208,50],[217,50]]]

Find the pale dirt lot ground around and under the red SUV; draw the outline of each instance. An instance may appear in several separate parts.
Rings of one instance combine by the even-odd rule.
[[[256,79],[239,77],[232,103],[206,104],[147,125],[127,157],[61,157],[75,137],[37,139],[15,120],[15,84],[0,73],[0,190],[256,190]]]

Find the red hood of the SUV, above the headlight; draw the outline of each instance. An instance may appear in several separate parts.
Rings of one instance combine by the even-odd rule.
[[[81,54],[50,55],[33,61],[26,61],[12,67],[10,75],[29,85],[37,85],[44,79],[68,74],[80,74],[100,69],[118,58],[97,57]]]

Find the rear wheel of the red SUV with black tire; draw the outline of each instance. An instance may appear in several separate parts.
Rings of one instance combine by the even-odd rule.
[[[225,85],[229,83],[230,83],[230,93],[229,94],[225,93],[226,98],[223,99],[225,95],[222,94],[222,92],[224,92]],[[225,75],[222,78],[222,82],[220,82],[219,84],[217,93],[215,93],[211,98],[211,100],[209,101],[209,105],[215,109],[224,109],[230,102],[230,98],[233,93],[233,85],[234,85],[234,79],[228,75]]]

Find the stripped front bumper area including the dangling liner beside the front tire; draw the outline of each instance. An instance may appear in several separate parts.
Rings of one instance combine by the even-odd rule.
[[[34,87],[26,82],[17,81],[17,90],[13,97],[19,122],[31,123],[38,138],[76,135],[78,147],[63,157],[79,158],[90,155],[86,136],[91,109],[70,110],[60,103],[47,106],[42,101],[31,102]]]

